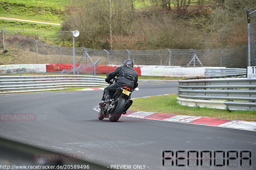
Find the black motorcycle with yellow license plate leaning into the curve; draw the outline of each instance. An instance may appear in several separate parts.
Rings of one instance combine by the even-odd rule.
[[[108,74],[107,74],[108,76]],[[109,84],[113,84],[116,78],[113,78]],[[138,91],[139,88],[134,90]],[[103,120],[109,118],[111,122],[116,122],[122,116],[126,114],[126,111],[132,105],[131,94],[132,88],[130,85],[124,84],[123,87],[117,88],[115,94],[111,94],[110,102],[108,104],[101,102],[98,119]],[[104,96],[104,94],[103,94]],[[102,98],[102,100],[104,100]]]

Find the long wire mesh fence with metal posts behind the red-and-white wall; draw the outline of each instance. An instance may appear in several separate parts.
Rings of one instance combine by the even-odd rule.
[[[3,34],[0,36],[3,46]],[[23,56],[26,64],[73,64],[73,48],[54,46],[34,39],[20,32],[4,30],[6,50],[14,50]],[[92,64],[99,58],[98,64],[122,65],[124,60],[132,59],[135,65],[162,65],[182,67],[247,67],[247,46],[232,49],[159,49],[159,50],[105,50],[85,47],[75,48],[76,64]],[[21,61],[22,61],[21,60]]]

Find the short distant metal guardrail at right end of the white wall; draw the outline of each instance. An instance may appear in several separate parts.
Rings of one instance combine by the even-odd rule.
[[[221,77],[246,74],[246,68],[205,68],[204,77]]]

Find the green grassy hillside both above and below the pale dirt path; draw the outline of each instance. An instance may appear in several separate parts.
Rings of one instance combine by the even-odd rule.
[[[70,0],[0,0],[0,17],[28,19],[34,21],[62,23],[63,19],[70,15]],[[18,24],[18,25],[14,25]],[[61,25],[40,24],[24,21],[0,19],[0,27],[4,30],[40,30],[60,31]],[[14,33],[7,32],[5,33]],[[15,32],[17,33],[17,32]],[[54,45],[63,45],[58,39],[57,32],[18,32],[21,35],[28,34],[36,39]],[[66,43],[67,44],[67,43]],[[70,44],[70,43],[69,43]]]

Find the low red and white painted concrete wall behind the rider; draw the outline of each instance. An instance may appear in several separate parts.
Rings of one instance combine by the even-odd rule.
[[[79,67],[80,64],[75,64]],[[115,71],[117,65],[97,65],[97,74],[107,74]],[[160,77],[204,77],[205,67],[179,67],[179,66],[134,66],[138,75],[160,76]],[[17,64],[0,66],[0,74],[19,74],[19,73],[44,73],[57,72],[73,69],[73,64]],[[84,64],[80,67],[80,74],[92,73],[94,65]]]

